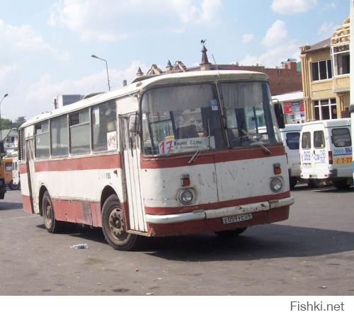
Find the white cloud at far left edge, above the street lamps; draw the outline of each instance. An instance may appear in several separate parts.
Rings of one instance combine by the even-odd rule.
[[[45,52],[58,59],[67,59],[67,52],[62,52],[52,47],[31,25],[11,25],[0,20],[1,45],[8,51],[19,50],[22,52]]]

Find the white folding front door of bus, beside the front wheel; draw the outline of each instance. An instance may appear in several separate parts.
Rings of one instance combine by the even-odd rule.
[[[135,132],[129,131],[130,115],[120,115],[120,139],[122,142],[122,172],[125,175],[125,202],[129,214],[127,226],[131,230],[147,232],[147,222],[142,202],[142,188],[140,184],[140,142]]]

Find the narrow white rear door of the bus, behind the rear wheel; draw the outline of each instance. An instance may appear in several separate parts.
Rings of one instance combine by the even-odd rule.
[[[26,164],[28,175],[28,189],[30,192],[30,204],[32,213],[39,214],[38,195],[35,190],[35,138],[25,140]]]

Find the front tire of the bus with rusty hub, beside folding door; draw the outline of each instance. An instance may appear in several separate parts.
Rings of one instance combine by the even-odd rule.
[[[110,195],[102,207],[102,231],[105,241],[116,250],[134,250],[140,236],[130,234],[126,229],[120,201],[117,195]]]

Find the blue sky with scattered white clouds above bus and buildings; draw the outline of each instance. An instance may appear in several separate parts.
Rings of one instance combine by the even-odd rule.
[[[331,36],[350,0],[0,0],[1,117],[26,120],[61,94],[107,91],[181,60],[280,66]]]

